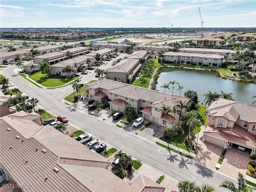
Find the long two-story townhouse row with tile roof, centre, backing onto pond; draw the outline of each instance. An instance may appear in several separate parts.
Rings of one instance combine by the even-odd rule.
[[[164,118],[164,114],[161,111],[162,106],[165,105],[173,108],[180,101],[188,106],[190,101],[190,98],[107,79],[91,82],[86,84],[86,86],[87,90],[84,92],[86,98],[100,101],[109,98],[111,100],[108,102],[110,109],[116,110],[117,112],[122,112],[127,105],[134,106],[137,113],[142,113],[142,118],[163,126],[164,124],[172,124],[174,121],[177,123],[179,116],[176,114],[174,120],[174,114],[170,112]],[[186,111],[186,108],[182,109],[184,114]]]

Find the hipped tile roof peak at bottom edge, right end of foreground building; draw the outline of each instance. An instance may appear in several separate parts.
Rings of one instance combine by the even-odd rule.
[[[140,192],[163,192],[164,187],[140,174],[131,184],[132,191]]]

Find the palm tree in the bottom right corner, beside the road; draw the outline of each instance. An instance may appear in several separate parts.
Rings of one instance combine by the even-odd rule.
[[[242,173],[238,173],[237,185],[238,187],[236,187],[236,184],[233,182],[224,180],[219,187],[226,188],[232,192],[253,192],[256,189],[255,187],[246,184]]]

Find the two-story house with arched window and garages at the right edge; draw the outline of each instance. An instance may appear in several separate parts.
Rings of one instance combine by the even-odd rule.
[[[206,111],[203,141],[256,151],[256,106],[218,98]]]

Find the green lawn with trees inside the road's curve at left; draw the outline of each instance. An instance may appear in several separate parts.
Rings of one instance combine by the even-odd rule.
[[[77,77],[63,78],[62,76],[56,76],[56,75],[48,77],[46,74],[42,74],[41,71],[38,71],[34,74],[29,74],[29,78],[38,82],[42,86],[57,87],[57,86],[62,86],[64,84],[76,79]]]

